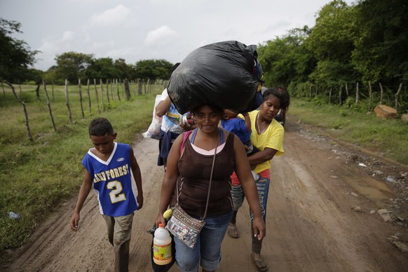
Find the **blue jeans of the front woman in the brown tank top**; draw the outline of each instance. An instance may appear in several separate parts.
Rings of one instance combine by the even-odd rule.
[[[193,248],[174,237],[177,266],[181,271],[198,271],[199,264],[207,271],[218,269],[221,260],[221,244],[231,217],[232,212],[219,217],[206,217],[205,226]]]

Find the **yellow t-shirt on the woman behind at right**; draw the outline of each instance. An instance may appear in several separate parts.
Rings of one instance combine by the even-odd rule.
[[[258,135],[257,133],[257,114],[259,111],[251,111],[249,114],[250,119],[251,119],[251,128],[252,128],[252,133],[251,133],[251,142],[254,145],[254,147],[257,147],[260,151],[263,151],[266,147],[271,148],[271,149],[276,149],[278,152],[276,152],[275,156],[280,156],[284,154],[283,151],[283,135],[285,133],[285,130],[283,129],[283,125],[281,125],[278,121],[276,121],[274,118],[271,121],[271,124],[269,124],[268,128],[262,133],[261,135]],[[257,167],[254,169],[254,172],[259,173],[262,172],[266,169],[271,168],[271,160],[265,161],[264,163],[260,163],[257,165]]]

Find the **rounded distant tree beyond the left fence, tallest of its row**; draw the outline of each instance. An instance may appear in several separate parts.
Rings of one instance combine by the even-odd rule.
[[[57,79],[68,79],[70,83],[78,83],[78,79],[85,79],[86,69],[93,63],[93,54],[71,51],[57,55],[55,61]]]

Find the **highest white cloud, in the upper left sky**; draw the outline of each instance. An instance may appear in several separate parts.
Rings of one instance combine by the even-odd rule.
[[[108,9],[97,15],[92,15],[90,17],[90,25],[94,27],[120,25],[127,20],[130,13],[130,8],[119,4],[115,8]]]

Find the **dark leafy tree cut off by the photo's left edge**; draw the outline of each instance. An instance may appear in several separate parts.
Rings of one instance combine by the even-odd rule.
[[[37,50],[31,50],[27,43],[10,35],[20,31],[20,22],[0,18],[0,78],[13,82],[23,79],[23,72],[34,64]]]

